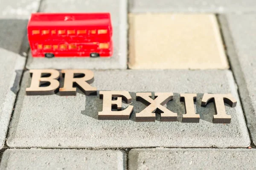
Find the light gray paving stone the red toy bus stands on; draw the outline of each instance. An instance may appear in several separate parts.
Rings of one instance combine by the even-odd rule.
[[[110,12],[113,27],[113,56],[108,58],[33,58],[29,53],[26,68],[127,68],[127,1],[126,0],[44,0],[42,12]]]

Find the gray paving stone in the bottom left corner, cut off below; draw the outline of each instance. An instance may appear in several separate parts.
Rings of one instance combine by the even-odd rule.
[[[8,149],[0,170],[124,170],[125,164],[117,150]]]

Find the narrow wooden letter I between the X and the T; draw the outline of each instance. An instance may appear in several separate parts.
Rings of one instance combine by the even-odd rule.
[[[195,113],[194,102],[196,94],[180,94],[180,102],[185,104],[185,114],[182,115],[182,122],[199,123],[200,115]]]

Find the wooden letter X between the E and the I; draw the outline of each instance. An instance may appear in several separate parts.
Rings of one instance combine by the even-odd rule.
[[[136,122],[154,122],[155,113],[161,114],[161,122],[177,121],[177,113],[173,113],[163,107],[163,105],[172,100],[173,93],[155,93],[154,100],[151,96],[151,93],[136,94],[136,100],[148,106],[140,113],[136,113]]]

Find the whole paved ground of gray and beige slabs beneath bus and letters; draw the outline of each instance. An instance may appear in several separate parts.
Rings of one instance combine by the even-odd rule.
[[[37,11],[110,12],[113,57],[33,58]],[[0,0],[0,170],[256,169],[255,21],[255,0]],[[29,70],[45,68],[90,69],[98,94],[27,96]],[[131,94],[129,120],[98,119],[102,90]],[[135,122],[136,92],[173,92],[177,122]],[[180,93],[198,94],[199,123],[182,122]],[[204,93],[235,97],[230,124],[212,123]]]

